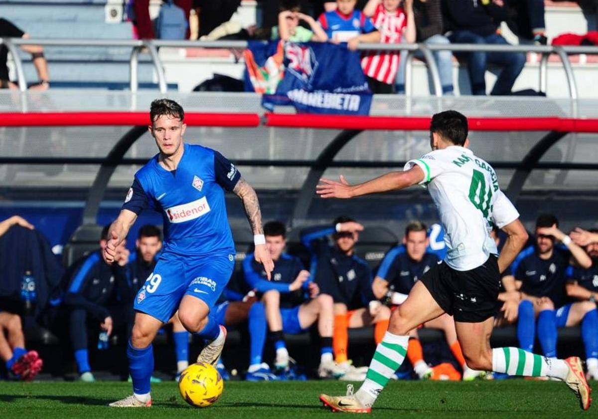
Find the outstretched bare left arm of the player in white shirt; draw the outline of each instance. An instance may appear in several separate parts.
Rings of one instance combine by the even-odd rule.
[[[316,186],[316,193],[322,198],[353,198],[370,193],[404,189],[420,183],[424,176],[423,170],[417,165],[404,172],[389,172],[356,185],[349,184],[341,175],[340,182],[322,178],[320,184]]]

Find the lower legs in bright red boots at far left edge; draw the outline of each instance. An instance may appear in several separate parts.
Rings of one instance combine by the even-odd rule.
[[[23,381],[31,381],[44,362],[36,351],[25,349],[25,335],[17,314],[0,311],[0,359],[6,369]]]

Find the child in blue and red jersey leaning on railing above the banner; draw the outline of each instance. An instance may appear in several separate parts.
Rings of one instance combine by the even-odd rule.
[[[335,10],[326,11],[318,18],[328,40],[335,44],[347,42],[350,50],[355,50],[359,42],[380,42],[380,32],[370,18],[355,10],[356,0],[337,0],[336,3]]]

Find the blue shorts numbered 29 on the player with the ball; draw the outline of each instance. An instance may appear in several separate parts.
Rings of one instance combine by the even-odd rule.
[[[184,295],[199,298],[212,308],[233,273],[234,256],[204,257],[161,254],[154,272],[135,298],[137,311],[166,323]]]

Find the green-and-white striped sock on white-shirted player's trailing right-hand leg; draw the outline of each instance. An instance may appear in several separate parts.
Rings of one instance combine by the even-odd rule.
[[[553,377],[565,380],[569,374],[567,363],[547,358],[520,348],[494,348],[492,371],[525,377]]]

